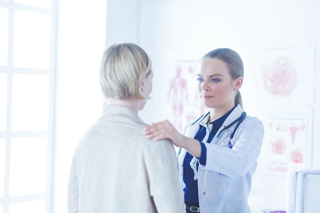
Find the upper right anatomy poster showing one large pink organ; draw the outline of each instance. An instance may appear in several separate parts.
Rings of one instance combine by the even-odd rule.
[[[261,51],[264,99],[285,107],[309,106],[313,102],[314,58],[313,47]]]

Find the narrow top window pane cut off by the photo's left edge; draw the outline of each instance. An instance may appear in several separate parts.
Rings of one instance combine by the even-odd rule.
[[[0,8],[0,66],[8,64],[8,9]]]

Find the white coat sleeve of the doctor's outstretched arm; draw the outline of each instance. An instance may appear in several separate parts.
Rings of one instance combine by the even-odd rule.
[[[260,154],[263,125],[257,118],[250,118],[237,132],[232,149],[205,144],[207,160],[205,165],[200,163],[199,167],[230,177],[241,177],[252,169]]]

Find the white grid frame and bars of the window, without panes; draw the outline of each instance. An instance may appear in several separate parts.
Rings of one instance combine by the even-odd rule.
[[[4,197],[0,197],[0,206],[3,212],[9,212],[9,204],[25,201],[44,200],[45,212],[52,211],[53,199],[53,168],[54,168],[54,127],[55,127],[55,100],[56,100],[56,44],[57,44],[57,1],[51,0],[50,8],[42,8],[31,5],[17,4],[13,0],[1,1],[0,8],[8,9],[8,63],[7,66],[0,66],[0,73],[7,74],[7,106],[6,106],[6,130],[0,131],[0,138],[5,139],[5,168],[4,168]],[[51,38],[50,38],[50,66],[48,69],[21,68],[13,66],[13,29],[14,11],[21,10],[33,13],[47,14],[51,17]],[[45,75],[49,77],[49,109],[47,131],[16,131],[11,130],[11,109],[12,109],[12,80],[14,74]],[[10,153],[11,138],[16,137],[47,137],[47,181],[45,193],[37,195],[26,195],[10,197]],[[31,154],[31,153],[30,153]],[[2,183],[0,183],[2,184]]]

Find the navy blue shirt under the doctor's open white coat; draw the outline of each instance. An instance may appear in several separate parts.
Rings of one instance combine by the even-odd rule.
[[[235,106],[236,107],[236,106]],[[234,108],[235,108],[234,107]],[[233,109],[234,109],[233,108]],[[232,109],[232,110],[233,110]],[[206,141],[210,143],[212,138],[218,132],[219,128],[222,126],[223,122],[225,121],[226,117],[232,112],[230,110],[225,115],[220,117],[219,119],[209,123],[213,124],[212,130],[209,134],[209,138]],[[199,130],[197,134],[194,136],[194,139],[197,139],[201,145],[201,156],[197,159],[193,158],[193,156],[187,152],[186,157],[184,159],[184,182],[186,187],[184,188],[185,192],[185,203],[188,206],[198,206],[199,207],[199,198],[198,198],[198,167],[199,162],[201,165],[205,165],[207,161],[207,148],[205,147],[204,143],[202,142],[203,138],[206,135],[207,128],[205,126],[199,125]]]

